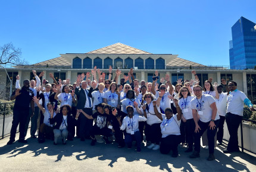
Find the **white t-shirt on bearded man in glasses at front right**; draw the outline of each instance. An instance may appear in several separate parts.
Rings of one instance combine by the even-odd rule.
[[[211,109],[210,105],[214,102],[216,101],[213,96],[208,94],[202,94],[201,98],[197,99],[196,97],[194,97],[191,100],[191,107],[192,109],[197,110],[199,114],[199,120],[201,120],[201,122],[209,122],[211,120],[213,109]],[[220,119],[220,116],[217,112],[214,120],[218,119]]]

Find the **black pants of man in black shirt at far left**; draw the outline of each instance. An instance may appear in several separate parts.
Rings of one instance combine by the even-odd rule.
[[[11,126],[10,140],[12,140],[12,141],[15,140],[15,135],[16,135],[18,124],[20,124],[20,126],[19,126],[20,138],[19,139],[25,139],[25,125],[26,125],[28,116],[29,116],[29,108],[13,110],[13,125]]]

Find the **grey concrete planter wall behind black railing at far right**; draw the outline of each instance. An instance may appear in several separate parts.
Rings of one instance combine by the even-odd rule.
[[[243,127],[243,148],[256,154],[256,128],[249,126],[248,123],[242,123]],[[226,122],[224,123],[223,139],[229,141],[229,130]],[[241,146],[241,126],[238,128],[238,145]]]

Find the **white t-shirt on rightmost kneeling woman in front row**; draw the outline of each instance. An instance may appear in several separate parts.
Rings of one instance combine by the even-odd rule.
[[[166,118],[166,115],[162,113],[163,122],[160,125],[162,138],[166,138],[168,135],[180,135],[180,123],[181,120],[177,120],[177,114],[173,114],[170,119]]]

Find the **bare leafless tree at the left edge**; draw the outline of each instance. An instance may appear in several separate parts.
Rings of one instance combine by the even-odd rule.
[[[0,46],[0,65],[25,65],[27,61],[21,58],[21,49],[15,48],[13,43]]]

